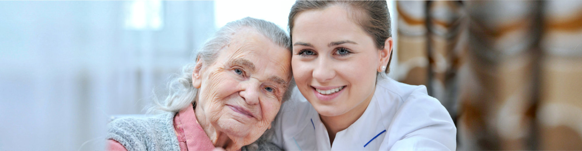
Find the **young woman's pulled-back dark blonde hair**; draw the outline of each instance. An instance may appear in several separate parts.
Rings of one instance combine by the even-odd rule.
[[[377,49],[384,49],[386,39],[392,37],[390,13],[386,1],[296,1],[289,13],[289,35],[293,38],[293,25],[297,15],[307,10],[321,10],[333,5],[347,6],[352,11],[352,20],[374,39]],[[390,59],[386,64],[389,72]]]

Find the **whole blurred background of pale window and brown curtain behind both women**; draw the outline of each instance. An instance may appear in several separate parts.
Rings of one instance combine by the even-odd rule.
[[[0,1],[0,150],[102,150],[219,27],[294,1]],[[458,150],[582,150],[582,1],[388,1],[389,77],[427,85]]]

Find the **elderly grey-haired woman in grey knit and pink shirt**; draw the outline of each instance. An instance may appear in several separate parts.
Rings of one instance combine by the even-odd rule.
[[[172,83],[164,111],[109,124],[109,150],[240,150],[271,128],[288,98],[290,43],[275,24],[250,17],[217,31]]]

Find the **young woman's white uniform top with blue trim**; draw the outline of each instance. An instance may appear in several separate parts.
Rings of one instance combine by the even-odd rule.
[[[424,85],[379,80],[364,114],[339,131],[333,145],[313,106],[295,88],[272,128],[284,150],[455,150],[449,113]]]

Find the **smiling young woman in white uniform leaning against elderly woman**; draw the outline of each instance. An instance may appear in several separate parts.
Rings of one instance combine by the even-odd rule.
[[[456,149],[456,128],[445,107],[423,85],[386,77],[393,47],[386,1],[297,1],[289,31],[297,89],[275,121],[275,145]]]

